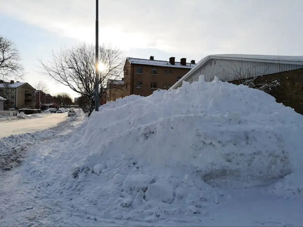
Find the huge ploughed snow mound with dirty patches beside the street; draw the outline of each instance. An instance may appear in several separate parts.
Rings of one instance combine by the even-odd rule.
[[[116,218],[203,213],[218,188],[266,185],[303,161],[303,116],[243,85],[198,82],[102,106],[28,168],[77,209]],[[86,205],[82,206],[83,201]]]

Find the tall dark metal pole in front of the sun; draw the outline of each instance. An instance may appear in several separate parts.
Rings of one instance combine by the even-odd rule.
[[[95,111],[99,111],[99,0],[96,0],[96,81],[95,81]]]

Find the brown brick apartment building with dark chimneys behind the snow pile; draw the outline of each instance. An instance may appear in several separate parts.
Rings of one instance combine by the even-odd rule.
[[[180,62],[175,57],[169,61],[127,58],[124,65],[124,97],[128,95],[149,96],[157,89],[167,90],[195,66],[195,60],[190,63],[186,58]]]

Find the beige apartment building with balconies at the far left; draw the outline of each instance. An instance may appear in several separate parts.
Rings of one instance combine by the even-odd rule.
[[[35,88],[26,82],[0,81],[0,94],[7,99],[5,108],[35,106]]]

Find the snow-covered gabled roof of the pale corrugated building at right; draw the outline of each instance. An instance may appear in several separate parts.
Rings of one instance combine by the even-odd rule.
[[[174,89],[178,84],[182,83],[185,78],[196,71],[201,65],[205,64],[211,59],[227,59],[227,60],[238,60],[238,61],[257,61],[267,62],[275,64],[295,64],[302,65],[303,67],[303,56],[283,56],[283,55],[253,55],[253,54],[214,54],[208,55],[202,58],[187,74],[185,74],[177,83],[171,86],[170,89]]]

